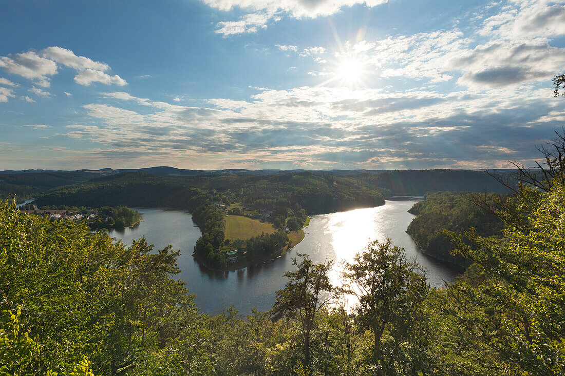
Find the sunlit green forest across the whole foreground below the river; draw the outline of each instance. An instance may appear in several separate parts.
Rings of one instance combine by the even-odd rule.
[[[565,141],[558,151],[565,155]],[[534,177],[493,208],[499,236],[470,228],[447,234],[454,252],[472,263],[450,286],[430,288],[401,249],[373,242],[344,265],[342,287],[329,283],[331,261],[314,264],[297,255],[272,310],[245,317],[233,309],[200,313],[184,282],[173,278],[179,252],[171,247],[152,250],[143,238],[124,247],[84,224],[20,215],[6,202],[0,207],[0,370],[562,375],[565,163],[547,163],[546,178]],[[210,211],[199,225],[214,232],[211,193],[193,193],[185,203],[194,212]],[[447,194],[440,201],[460,204]],[[434,206],[426,205],[418,211]],[[357,295],[359,304],[340,304],[341,294]]]

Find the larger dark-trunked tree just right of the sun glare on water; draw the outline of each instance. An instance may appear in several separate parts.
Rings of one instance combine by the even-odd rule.
[[[355,255],[354,263],[345,263],[343,277],[344,291],[359,299],[358,320],[373,333],[373,361],[384,373],[397,357],[399,344],[428,295],[425,275],[421,266],[409,263],[403,249],[393,247],[388,238],[384,243],[373,241]],[[397,342],[388,354],[388,365],[381,348],[386,329]]]

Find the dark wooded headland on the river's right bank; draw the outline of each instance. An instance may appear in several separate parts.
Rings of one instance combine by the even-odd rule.
[[[475,229],[478,235],[500,235],[502,221],[485,208],[500,207],[505,194],[463,194],[454,192],[428,193],[408,212],[416,215],[406,232],[414,239],[421,251],[436,259],[467,267],[469,260],[452,255],[454,244],[447,231],[461,233]],[[481,202],[477,202],[480,200]]]

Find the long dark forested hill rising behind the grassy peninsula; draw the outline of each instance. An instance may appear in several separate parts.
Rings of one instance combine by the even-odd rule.
[[[311,172],[194,177],[121,173],[60,187],[39,196],[37,204],[186,208],[185,201],[200,190],[210,191],[216,200],[229,202],[285,199],[312,214],[384,204],[380,190],[369,183],[354,177]]]

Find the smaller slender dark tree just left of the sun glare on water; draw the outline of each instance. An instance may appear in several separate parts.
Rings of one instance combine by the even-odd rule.
[[[275,305],[272,308],[274,320],[282,317],[293,318],[301,323],[304,340],[304,359],[306,366],[310,365],[310,337],[315,325],[316,314],[331,300],[332,285],[328,272],[333,261],[314,264],[310,257],[298,253],[300,263],[296,258],[292,263],[297,267],[294,272],[286,272],[289,279],[286,287],[277,291]]]

